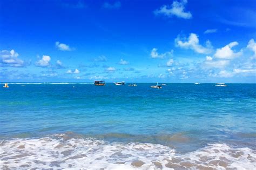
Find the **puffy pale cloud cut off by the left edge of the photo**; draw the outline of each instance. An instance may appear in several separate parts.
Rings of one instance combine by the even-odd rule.
[[[19,54],[14,50],[2,50],[0,52],[0,66],[23,67],[24,61],[18,59]]]

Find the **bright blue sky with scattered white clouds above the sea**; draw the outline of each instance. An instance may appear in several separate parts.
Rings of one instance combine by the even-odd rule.
[[[0,81],[256,83],[252,1],[0,1]]]

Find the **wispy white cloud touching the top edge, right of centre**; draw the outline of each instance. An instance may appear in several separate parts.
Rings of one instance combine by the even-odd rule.
[[[192,14],[185,11],[187,0],[173,1],[172,5],[163,5],[160,9],[154,11],[155,15],[165,15],[167,17],[176,16],[178,18],[190,19]]]

